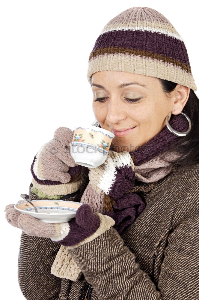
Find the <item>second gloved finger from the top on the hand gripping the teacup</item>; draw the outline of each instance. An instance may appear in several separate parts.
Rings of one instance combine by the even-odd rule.
[[[69,144],[68,144],[69,145]],[[60,161],[64,162],[69,167],[75,167],[77,164],[70,154],[70,146],[64,146],[61,142],[56,140],[51,140],[46,145],[46,151],[53,154],[55,157],[59,158]]]

